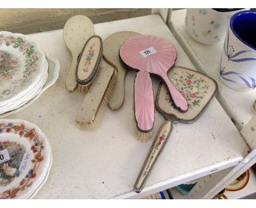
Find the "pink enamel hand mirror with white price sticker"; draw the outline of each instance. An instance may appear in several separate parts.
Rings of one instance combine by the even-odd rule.
[[[187,100],[167,76],[177,58],[171,42],[154,35],[136,35],[120,47],[119,56],[128,68],[160,76],[167,85],[174,106],[181,112],[188,111]]]

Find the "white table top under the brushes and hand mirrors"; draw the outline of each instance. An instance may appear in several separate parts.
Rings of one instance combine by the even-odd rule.
[[[195,69],[159,15],[106,22],[95,25],[102,39],[133,30],[170,40],[177,48],[176,64]],[[53,152],[53,166],[37,199],[140,198],[194,178],[237,164],[248,147],[216,99],[194,124],[177,124],[141,194],[132,191],[137,174],[153,140],[142,143],[133,131],[133,81],[125,80],[125,102],[119,111],[103,112],[96,132],[80,130],[75,123],[84,96],[65,88],[71,56],[62,30],[31,34],[51,56],[60,62],[60,76],[31,106],[10,115],[37,124],[46,134]],[[159,79],[153,79],[156,92]],[[156,93],[154,93],[155,95]],[[164,118],[155,114],[155,134]]]

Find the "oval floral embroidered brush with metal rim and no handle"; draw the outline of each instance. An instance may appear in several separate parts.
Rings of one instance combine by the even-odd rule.
[[[75,79],[81,91],[88,91],[100,68],[101,59],[102,39],[100,36],[91,36],[78,57],[75,69]]]

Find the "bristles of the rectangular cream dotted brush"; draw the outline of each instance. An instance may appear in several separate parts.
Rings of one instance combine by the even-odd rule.
[[[114,91],[114,86],[117,83],[117,74],[114,73],[113,77],[110,80],[108,89],[104,95],[104,99],[101,103],[101,106],[98,108],[97,114],[94,120],[91,120],[90,123],[79,123],[80,128],[85,131],[96,131],[97,127],[100,125],[100,120],[102,120],[102,112],[106,110],[108,101]],[[89,88],[88,88],[89,89]]]

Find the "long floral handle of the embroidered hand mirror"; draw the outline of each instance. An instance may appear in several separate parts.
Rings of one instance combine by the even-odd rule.
[[[158,160],[168,138],[171,135],[172,129],[172,122],[165,121],[165,123],[162,124],[162,126],[160,127],[158,134],[156,134],[154,142],[148,152],[147,158],[144,161],[141,171],[138,174],[135,185],[133,186],[133,189],[136,193],[141,192],[143,187],[145,186],[149,178],[149,175],[155,166],[156,161]]]

